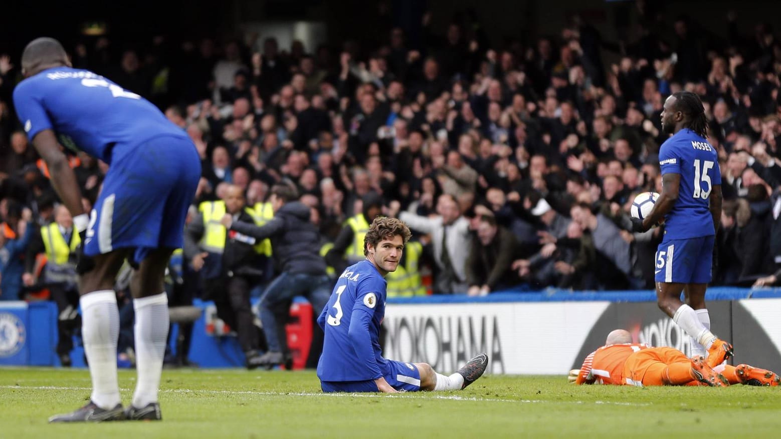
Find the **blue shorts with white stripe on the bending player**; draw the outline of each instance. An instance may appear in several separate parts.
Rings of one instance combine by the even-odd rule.
[[[134,248],[136,262],[156,248],[182,246],[184,220],[201,161],[186,138],[159,136],[136,147],[117,145],[87,228],[88,256]]]

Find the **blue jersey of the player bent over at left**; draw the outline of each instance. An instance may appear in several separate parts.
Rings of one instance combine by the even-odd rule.
[[[59,142],[109,162],[109,145],[134,147],[157,136],[186,133],[138,94],[88,70],[56,67],[13,90],[16,113],[30,140],[52,129]]]

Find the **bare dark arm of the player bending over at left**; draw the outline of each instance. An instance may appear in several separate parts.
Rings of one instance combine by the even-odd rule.
[[[62,154],[62,147],[60,147],[54,131],[44,129],[41,133],[37,133],[33,139],[33,145],[48,166],[52,186],[59,195],[59,199],[62,200],[62,204],[65,204],[74,217],[84,214],[84,208],[81,206],[81,189],[76,174],[68,165],[65,154]]]

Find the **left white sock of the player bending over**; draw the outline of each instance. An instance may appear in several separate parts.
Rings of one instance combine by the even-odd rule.
[[[119,402],[116,377],[116,340],[119,337],[119,310],[112,290],[81,296],[81,337],[92,377],[91,400],[102,409]]]

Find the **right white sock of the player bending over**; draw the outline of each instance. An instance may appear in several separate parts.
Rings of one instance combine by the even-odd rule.
[[[138,381],[133,394],[133,406],[141,409],[157,402],[157,391],[162,374],[162,357],[166,355],[168,337],[168,296],[133,299],[136,311],[134,334],[136,338],[136,369]]]

